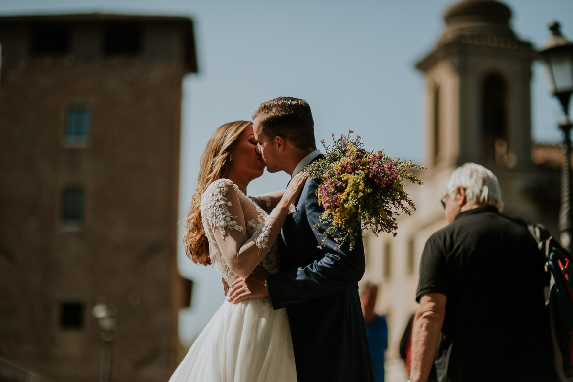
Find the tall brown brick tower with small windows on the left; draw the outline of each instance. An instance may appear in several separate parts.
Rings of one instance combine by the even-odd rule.
[[[193,22],[0,17],[0,43],[0,358],[99,380],[105,301],[113,379],[167,380],[189,297],[176,225]]]

